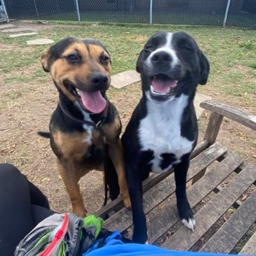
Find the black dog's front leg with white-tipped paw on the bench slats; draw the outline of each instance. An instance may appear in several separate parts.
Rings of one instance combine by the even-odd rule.
[[[176,198],[178,214],[187,228],[194,231],[196,221],[194,219],[186,194],[187,170],[189,169],[189,155],[183,157],[182,162],[175,166]]]

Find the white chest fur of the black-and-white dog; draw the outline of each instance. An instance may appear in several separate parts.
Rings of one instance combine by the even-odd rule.
[[[151,170],[154,173],[164,173],[192,150],[194,141],[181,135],[181,118],[188,96],[182,94],[165,102],[155,101],[149,95],[147,98],[148,114],[139,124],[139,142],[143,151],[153,151],[154,158],[149,162],[152,164]],[[162,154],[165,153],[174,154],[176,158],[163,169]]]

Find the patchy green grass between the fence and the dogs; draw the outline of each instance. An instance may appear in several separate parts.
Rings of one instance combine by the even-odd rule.
[[[76,22],[62,22],[62,24]],[[47,25],[44,25],[47,26]],[[239,96],[239,100],[252,100],[255,92],[256,30],[220,28],[212,26],[181,26],[145,24],[83,23],[82,26],[62,26],[40,30],[33,38],[51,38],[55,42],[73,36],[96,38],[107,46],[112,55],[112,73],[135,69],[139,52],[153,33],[186,31],[191,34],[210,61],[210,77],[207,86],[227,97]],[[12,46],[12,50],[0,49],[0,71],[4,84],[42,83],[49,80],[40,66],[40,55],[49,46],[28,46],[27,37],[7,38],[0,34],[0,44]],[[24,71],[24,74],[21,73]],[[252,95],[251,95],[252,94]]]

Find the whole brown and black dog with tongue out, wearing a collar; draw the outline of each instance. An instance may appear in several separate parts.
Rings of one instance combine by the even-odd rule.
[[[41,59],[58,89],[59,103],[50,132],[39,134],[50,138],[73,212],[86,216],[78,181],[92,169],[105,169],[110,198],[114,200],[120,188],[124,205],[130,207],[119,139],[121,121],[105,94],[111,73],[108,50],[97,40],[69,37],[49,47]]]

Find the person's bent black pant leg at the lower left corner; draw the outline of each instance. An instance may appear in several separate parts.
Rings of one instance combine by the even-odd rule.
[[[1,255],[13,255],[17,244],[37,224],[35,219],[40,219],[33,216],[30,192],[28,180],[16,167],[0,164]]]

